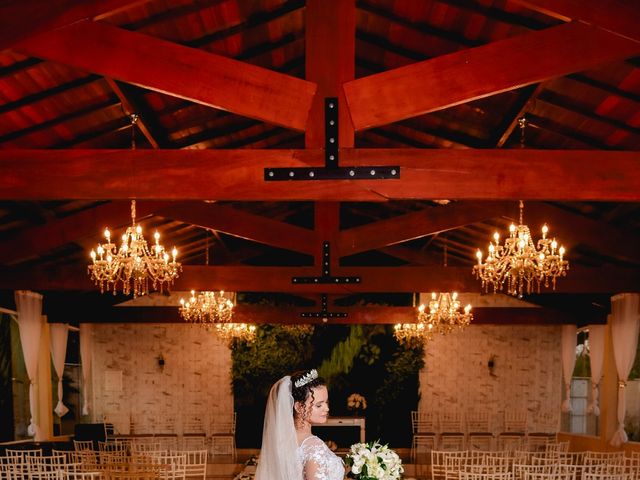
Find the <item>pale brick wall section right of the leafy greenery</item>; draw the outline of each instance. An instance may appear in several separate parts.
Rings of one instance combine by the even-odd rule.
[[[426,348],[419,408],[486,409],[498,430],[507,408],[526,409],[530,431],[543,421],[559,424],[560,337],[559,326],[524,325],[472,325],[436,337]]]

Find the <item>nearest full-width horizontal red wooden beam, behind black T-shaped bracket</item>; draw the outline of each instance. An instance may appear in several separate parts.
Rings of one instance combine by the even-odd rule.
[[[266,166],[322,166],[322,150],[0,150],[0,200],[640,201],[637,152],[380,148],[340,155],[345,166],[400,165],[401,178],[264,181]]]

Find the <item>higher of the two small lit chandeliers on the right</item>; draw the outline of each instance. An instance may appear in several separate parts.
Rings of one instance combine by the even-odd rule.
[[[422,317],[422,321],[433,332],[445,335],[467,327],[473,320],[471,305],[464,307],[463,311],[460,311],[460,306],[457,292],[439,294],[432,292],[429,313],[426,312],[424,304],[420,305],[418,318]]]

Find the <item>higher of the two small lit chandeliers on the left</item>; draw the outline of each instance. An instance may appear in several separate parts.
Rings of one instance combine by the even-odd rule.
[[[180,299],[180,315],[186,322],[211,325],[228,323],[233,318],[235,294],[219,292],[200,292],[191,290],[191,298]]]

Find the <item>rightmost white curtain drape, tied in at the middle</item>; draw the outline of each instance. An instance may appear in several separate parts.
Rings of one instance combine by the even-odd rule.
[[[618,371],[618,429],[611,438],[611,445],[614,447],[629,440],[624,431],[624,417],[627,413],[624,389],[638,348],[639,306],[640,295],[637,293],[621,293],[611,298],[611,339]]]

